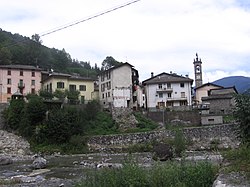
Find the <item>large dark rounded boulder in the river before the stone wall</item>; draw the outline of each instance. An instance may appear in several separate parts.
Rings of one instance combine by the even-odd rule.
[[[153,147],[155,160],[166,161],[173,158],[173,149],[170,145],[159,143]]]

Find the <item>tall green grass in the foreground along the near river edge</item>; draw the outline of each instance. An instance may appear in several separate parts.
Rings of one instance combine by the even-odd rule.
[[[86,178],[77,187],[210,187],[218,168],[208,162],[159,163],[144,168],[134,162],[122,168],[103,168],[86,173]]]

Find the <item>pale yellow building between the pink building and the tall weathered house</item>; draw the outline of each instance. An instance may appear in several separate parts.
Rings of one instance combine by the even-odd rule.
[[[75,75],[42,72],[42,88],[49,92],[58,90],[79,91],[80,103],[87,103],[95,98],[94,79],[89,77],[80,77]]]

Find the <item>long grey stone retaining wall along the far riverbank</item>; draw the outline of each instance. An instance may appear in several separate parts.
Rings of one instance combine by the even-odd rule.
[[[239,141],[234,131],[235,124],[223,124],[183,129],[186,139],[193,144],[190,150],[210,149],[214,144],[219,148],[238,147]],[[88,145],[92,151],[121,150],[133,144],[173,138],[174,131],[162,130],[144,133],[119,134],[106,136],[93,136],[89,138]]]

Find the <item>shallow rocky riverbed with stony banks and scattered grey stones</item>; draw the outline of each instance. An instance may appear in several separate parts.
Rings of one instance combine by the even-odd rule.
[[[122,167],[122,163],[126,159],[131,159],[131,157],[145,167],[154,163],[151,153],[132,155],[107,153],[83,155],[55,154],[40,157],[40,155],[31,153],[29,148],[29,143],[23,138],[0,130],[0,186],[70,187],[74,186],[77,181],[84,179],[88,170],[98,170],[101,167]],[[41,165],[37,165],[34,162],[39,158],[38,163]],[[223,158],[219,153],[187,152],[186,160],[208,160],[215,164],[223,165]],[[213,185],[213,187],[232,186],[249,187],[250,184],[242,173],[221,173]]]

